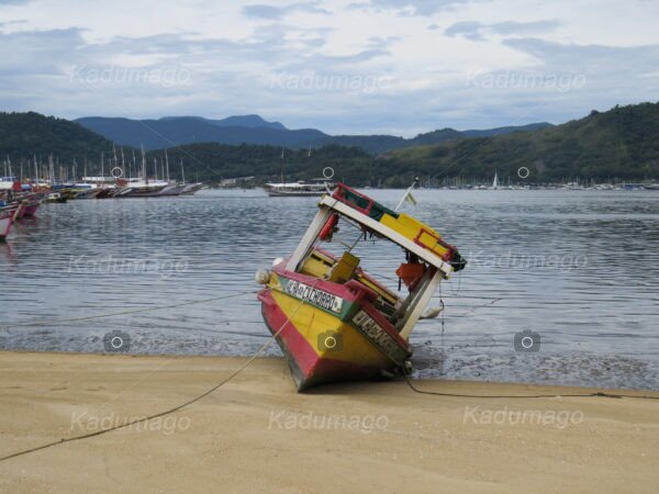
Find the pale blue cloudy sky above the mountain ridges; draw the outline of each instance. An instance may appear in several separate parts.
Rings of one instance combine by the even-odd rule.
[[[0,0],[0,110],[412,136],[659,100],[654,0]]]

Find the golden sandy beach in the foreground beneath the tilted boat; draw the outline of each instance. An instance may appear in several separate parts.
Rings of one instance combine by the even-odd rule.
[[[245,359],[0,352],[0,457],[192,398]],[[458,394],[599,390],[457,381]],[[625,394],[646,394],[625,391]],[[657,492],[659,401],[294,392],[254,361],[172,415],[0,462],[2,492]]]

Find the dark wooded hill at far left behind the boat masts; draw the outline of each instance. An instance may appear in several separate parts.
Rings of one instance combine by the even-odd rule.
[[[34,156],[46,160],[49,155],[68,164],[102,151],[111,153],[112,142],[77,123],[35,112],[0,112],[0,157],[9,156],[13,165]],[[12,171],[19,172],[18,168]]]

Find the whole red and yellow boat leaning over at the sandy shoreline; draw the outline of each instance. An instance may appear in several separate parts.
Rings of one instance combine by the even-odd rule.
[[[356,234],[354,244],[332,242],[339,224],[342,236],[344,227]],[[395,273],[399,291],[404,283],[406,294],[359,267],[354,248],[362,239],[402,247]],[[332,246],[343,252],[331,252]],[[406,372],[412,329],[439,282],[466,263],[431,226],[338,183],[320,200],[294,252],[256,273],[264,284],[258,292],[263,318],[289,361],[298,391]]]

